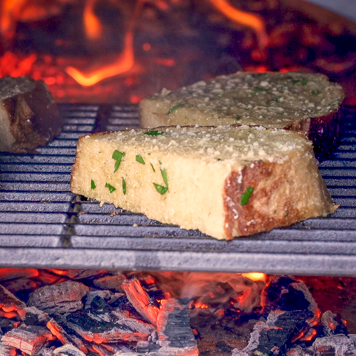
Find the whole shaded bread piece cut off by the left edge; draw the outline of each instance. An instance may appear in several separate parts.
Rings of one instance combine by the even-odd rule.
[[[62,130],[63,119],[42,80],[1,78],[0,103],[0,151],[33,152]]]

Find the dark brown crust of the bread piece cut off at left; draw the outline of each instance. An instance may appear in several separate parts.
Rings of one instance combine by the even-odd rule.
[[[32,153],[62,131],[63,119],[47,85],[43,80],[31,81],[31,84],[28,90],[3,100],[16,140],[11,147],[15,153]]]

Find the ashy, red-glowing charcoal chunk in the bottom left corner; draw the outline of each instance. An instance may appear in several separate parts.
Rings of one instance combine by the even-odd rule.
[[[1,341],[28,355],[35,355],[47,341],[54,340],[52,333],[43,326],[30,325],[26,329],[14,328],[1,337]]]

